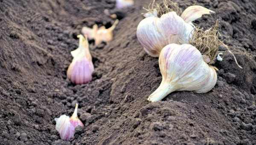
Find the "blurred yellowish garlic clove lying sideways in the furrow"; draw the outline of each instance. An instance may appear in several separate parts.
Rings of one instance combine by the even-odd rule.
[[[89,39],[94,39],[95,44],[99,45],[102,41],[109,42],[113,40],[113,30],[116,28],[118,22],[119,20],[116,20],[113,25],[108,29],[106,29],[105,26],[101,26],[100,28],[98,28],[96,24],[93,25],[93,29],[83,27],[81,32],[83,35],[87,35]]]

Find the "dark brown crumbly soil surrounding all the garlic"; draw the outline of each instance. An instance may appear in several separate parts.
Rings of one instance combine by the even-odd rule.
[[[215,11],[194,24],[207,29],[218,19],[243,69],[225,52],[210,92],[149,103],[162,77],[136,29],[151,0],[121,11],[114,0],[0,0],[0,144],[256,145],[256,1],[174,1],[183,10],[197,4]],[[76,35],[82,26],[110,27],[105,9],[120,19],[114,40],[90,41],[93,81],[72,84],[66,73]],[[62,141],[54,118],[71,116],[76,103],[85,128]]]

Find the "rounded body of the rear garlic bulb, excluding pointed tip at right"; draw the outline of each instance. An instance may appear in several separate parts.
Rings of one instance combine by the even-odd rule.
[[[137,38],[149,55],[158,57],[167,44],[188,44],[193,30],[176,12],[169,12],[160,18],[143,19],[137,27]]]

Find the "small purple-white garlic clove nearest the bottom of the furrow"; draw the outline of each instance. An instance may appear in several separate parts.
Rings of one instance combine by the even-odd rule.
[[[75,128],[77,126],[84,127],[84,124],[79,120],[77,116],[78,104],[76,104],[75,111],[71,117],[61,115],[59,118],[55,118],[55,129],[60,133],[61,139],[70,140],[74,137]]]

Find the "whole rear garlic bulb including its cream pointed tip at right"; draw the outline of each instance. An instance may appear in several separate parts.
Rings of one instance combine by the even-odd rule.
[[[169,12],[159,18],[157,10],[153,9],[144,14],[146,18],[137,27],[138,41],[149,55],[158,57],[168,44],[188,44],[194,30],[191,22],[210,13],[213,11],[202,6],[190,6],[181,17],[176,12]]]

